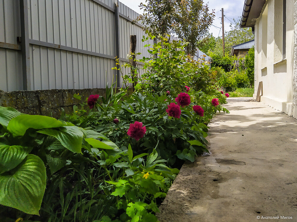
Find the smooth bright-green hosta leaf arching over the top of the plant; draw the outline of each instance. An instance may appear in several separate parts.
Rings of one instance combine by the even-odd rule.
[[[23,136],[29,128],[58,128],[66,125],[66,123],[62,123],[61,121],[48,116],[20,115],[9,121],[7,130],[16,136]]]

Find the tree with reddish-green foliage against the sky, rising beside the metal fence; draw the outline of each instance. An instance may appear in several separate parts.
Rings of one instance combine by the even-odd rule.
[[[176,34],[189,43],[188,54],[195,53],[198,41],[214,19],[214,12],[209,12],[203,0],[146,0],[140,7],[144,13],[137,20],[141,20],[145,30],[154,36]]]

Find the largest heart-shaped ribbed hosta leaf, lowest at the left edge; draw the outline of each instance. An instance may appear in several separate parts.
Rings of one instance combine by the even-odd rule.
[[[0,174],[0,204],[39,215],[45,185],[44,163],[29,154],[11,174]]]

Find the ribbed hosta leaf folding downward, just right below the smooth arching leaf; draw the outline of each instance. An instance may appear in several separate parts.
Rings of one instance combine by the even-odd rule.
[[[83,132],[80,131],[77,126],[63,126],[59,129],[42,129],[37,132],[53,136],[70,151],[74,153],[81,153]]]

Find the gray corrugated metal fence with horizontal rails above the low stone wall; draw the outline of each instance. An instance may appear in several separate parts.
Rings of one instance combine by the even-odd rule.
[[[138,14],[118,6],[114,0],[0,0],[0,89],[104,88],[115,82],[111,68],[116,56],[126,61],[130,35],[137,36],[137,52],[148,56],[142,25],[132,24]]]

